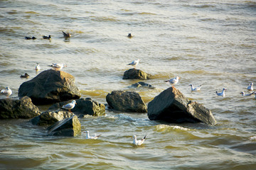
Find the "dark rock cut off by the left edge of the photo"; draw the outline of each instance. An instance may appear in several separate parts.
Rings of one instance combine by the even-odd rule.
[[[31,98],[6,98],[0,100],[0,119],[34,118],[40,115],[38,107],[33,105]]]

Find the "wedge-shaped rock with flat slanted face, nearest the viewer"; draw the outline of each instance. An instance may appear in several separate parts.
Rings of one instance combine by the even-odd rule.
[[[78,116],[73,115],[70,118],[56,122],[47,129],[50,136],[76,136],[81,131],[81,124]]]

